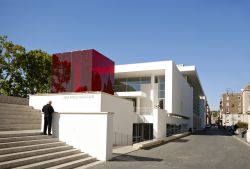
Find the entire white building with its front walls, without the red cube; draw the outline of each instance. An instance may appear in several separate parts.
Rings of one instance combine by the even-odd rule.
[[[113,88],[114,95],[32,95],[29,105],[41,109],[52,101],[53,136],[99,160],[111,159],[113,146],[205,126],[207,101],[195,66],[173,61],[117,65]]]

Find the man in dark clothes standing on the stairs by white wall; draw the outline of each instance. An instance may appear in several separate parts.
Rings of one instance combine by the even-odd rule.
[[[52,107],[52,101],[49,101],[48,104],[43,106],[42,111],[44,112],[44,125],[43,125],[43,134],[47,135],[47,128],[48,128],[48,135],[51,134],[51,123],[52,123],[52,113],[54,109]]]

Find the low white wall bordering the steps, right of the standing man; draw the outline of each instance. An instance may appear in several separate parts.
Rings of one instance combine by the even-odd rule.
[[[112,113],[55,113],[52,130],[54,137],[99,160],[112,158]]]

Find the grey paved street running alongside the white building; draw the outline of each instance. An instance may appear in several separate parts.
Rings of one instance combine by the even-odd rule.
[[[118,156],[91,169],[249,169],[250,147],[211,128],[148,150]]]

